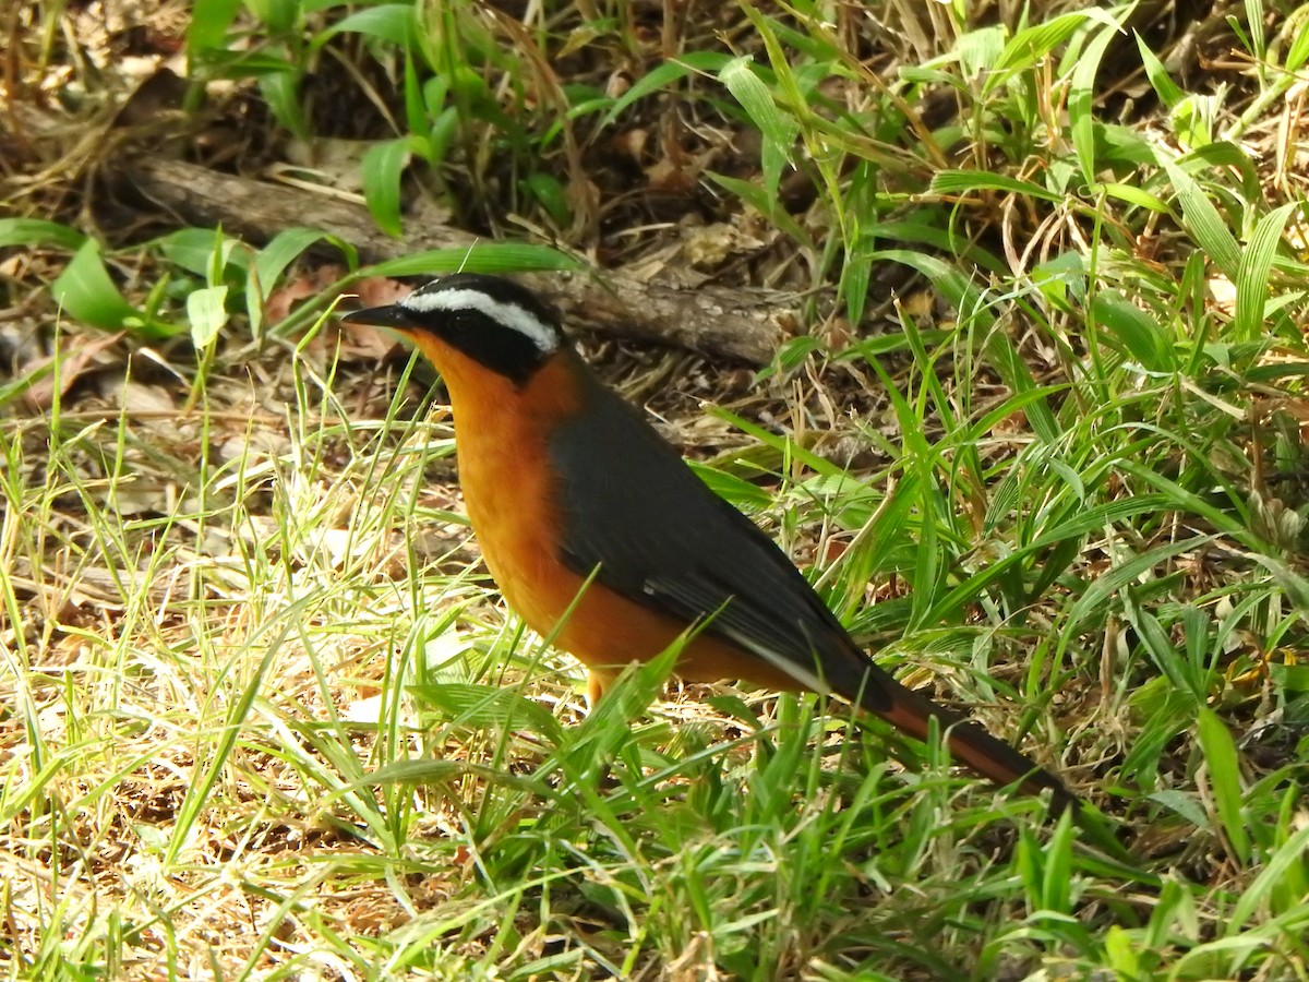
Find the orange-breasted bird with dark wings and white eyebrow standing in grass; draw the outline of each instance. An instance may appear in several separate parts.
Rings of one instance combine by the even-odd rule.
[[[674,668],[686,681],[835,694],[918,740],[936,719],[953,758],[979,775],[1051,792],[1051,814],[1080,805],[1054,774],[877,665],[785,553],[600,380],[529,288],[449,274],[343,319],[398,333],[440,373],[486,566],[531,630],[586,665],[592,704],[628,664],[695,628]]]

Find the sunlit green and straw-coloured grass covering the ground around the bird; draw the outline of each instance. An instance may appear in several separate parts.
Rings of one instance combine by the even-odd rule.
[[[0,331],[8,977],[1309,974],[1279,131],[1309,20],[1247,3],[1183,76],[1162,16],[689,9],[190,12],[192,80],[276,139],[367,140],[382,228],[428,198],[558,250],[363,268],[312,216],[143,242],[16,158],[45,177],[0,189],[30,312],[0,329],[33,325]],[[58,41],[88,24],[29,13],[20,81],[94,94]],[[696,229],[726,259],[695,267]],[[312,247],[336,282],[270,322]],[[793,291],[747,393],[658,365],[654,409],[882,664],[1021,740],[1131,862],[810,697],[665,687],[668,660],[585,710],[480,571],[421,369],[323,319],[368,275],[585,254]]]

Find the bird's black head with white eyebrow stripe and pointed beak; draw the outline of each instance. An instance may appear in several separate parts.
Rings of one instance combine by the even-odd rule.
[[[564,343],[558,314],[530,289],[476,272],[441,276],[390,306],[343,319],[391,327],[420,344],[423,334],[433,335],[518,385]]]

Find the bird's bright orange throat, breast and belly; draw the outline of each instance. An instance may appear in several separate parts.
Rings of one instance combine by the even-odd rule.
[[[465,505],[509,606],[537,634],[554,635],[601,686],[631,661],[649,660],[668,648],[687,623],[600,583],[583,592],[585,577],[560,560],[563,516],[555,507],[548,448],[556,420],[579,409],[576,356],[560,352],[518,389],[428,335],[415,342],[450,390]],[[745,678],[770,689],[796,687],[789,676],[708,635],[686,647],[678,674],[692,681]]]

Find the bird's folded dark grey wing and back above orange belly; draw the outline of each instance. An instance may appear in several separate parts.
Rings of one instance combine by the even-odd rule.
[[[567,566],[581,576],[600,567],[610,589],[687,623],[712,618],[711,634],[808,689],[890,710],[884,673],[776,543],[589,374],[584,403],[550,444]]]

